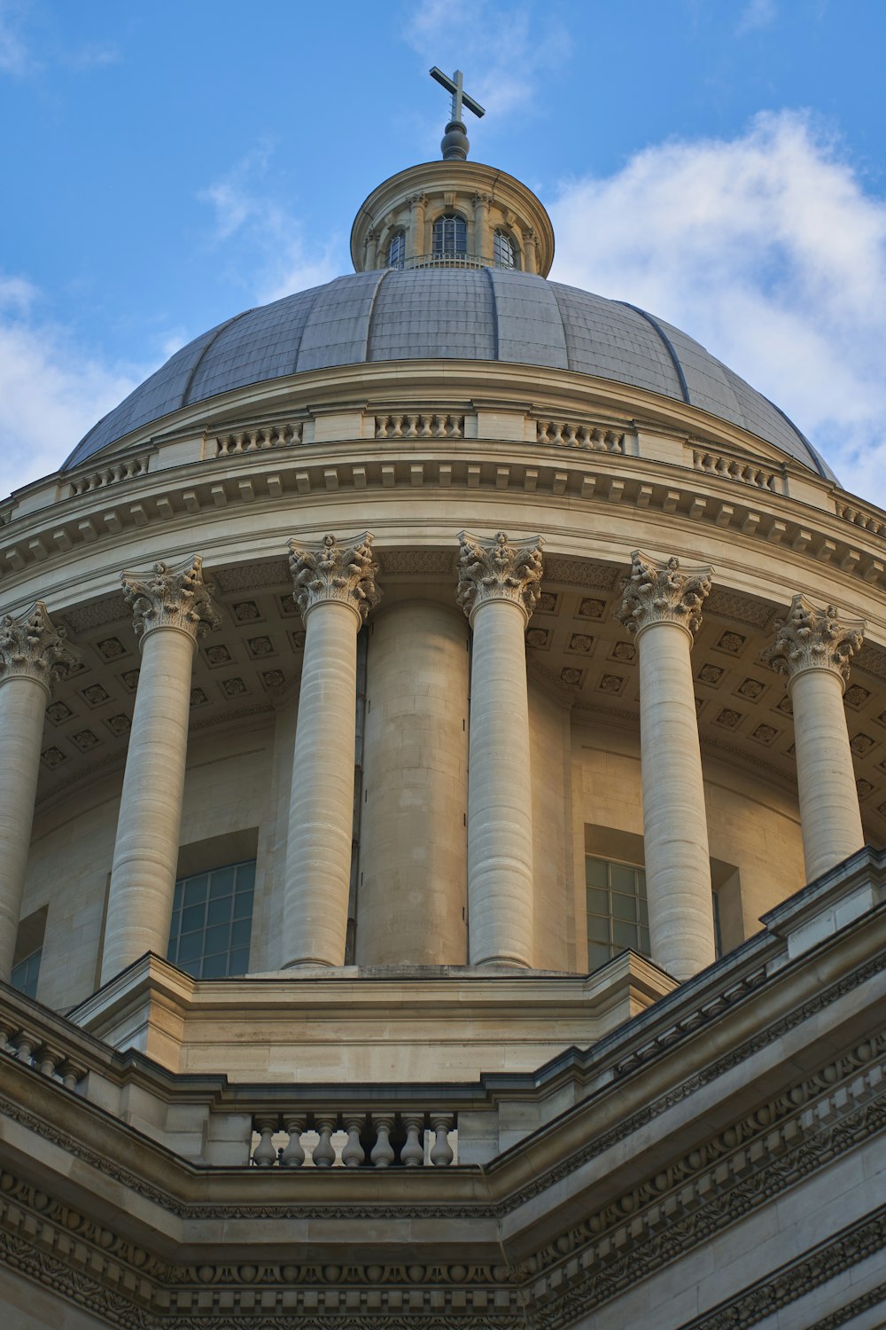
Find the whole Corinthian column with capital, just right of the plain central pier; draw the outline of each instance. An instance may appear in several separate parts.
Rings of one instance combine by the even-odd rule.
[[[542,537],[514,547],[461,532],[457,600],[474,630],[468,747],[469,959],[533,964],[533,789],[523,636]]]

